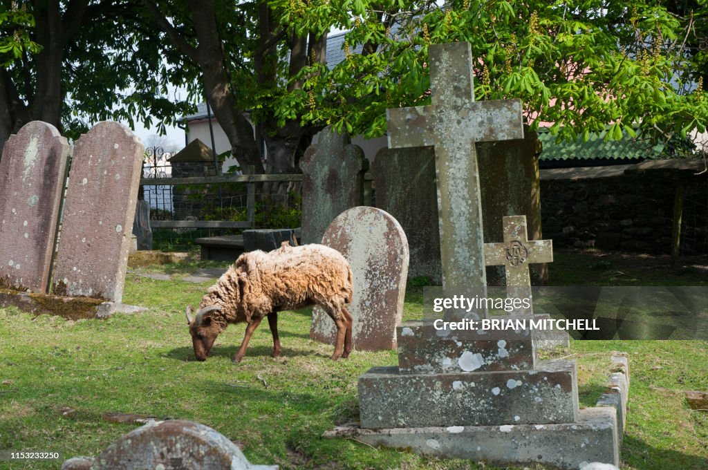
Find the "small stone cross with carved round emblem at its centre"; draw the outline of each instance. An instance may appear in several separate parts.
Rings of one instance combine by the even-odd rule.
[[[552,240],[529,240],[526,216],[503,217],[503,243],[484,243],[484,256],[488,266],[504,266],[507,296],[513,299],[531,298],[530,263],[552,263]],[[515,314],[532,314],[533,306],[523,306]]]

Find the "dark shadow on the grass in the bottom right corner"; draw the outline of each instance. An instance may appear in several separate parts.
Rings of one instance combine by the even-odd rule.
[[[641,470],[705,470],[708,459],[671,449],[657,449],[636,437],[624,436],[622,462]]]

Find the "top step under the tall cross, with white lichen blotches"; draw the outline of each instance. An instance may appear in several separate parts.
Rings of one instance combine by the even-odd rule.
[[[451,328],[455,326],[436,329],[433,320],[401,323],[396,329],[401,374],[532,370],[535,366],[528,330]]]

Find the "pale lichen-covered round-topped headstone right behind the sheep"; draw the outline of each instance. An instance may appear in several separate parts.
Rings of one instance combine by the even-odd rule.
[[[354,277],[353,343],[358,350],[396,349],[406,295],[409,251],[406,234],[390,214],[375,207],[354,207],[339,215],[322,237],[322,244],[343,254]],[[315,307],[310,338],[334,343],[336,328]]]

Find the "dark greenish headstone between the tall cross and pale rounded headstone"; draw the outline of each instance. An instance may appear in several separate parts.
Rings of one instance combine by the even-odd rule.
[[[381,149],[374,161],[376,206],[400,222],[411,251],[409,277],[440,285],[435,152],[430,148]]]

